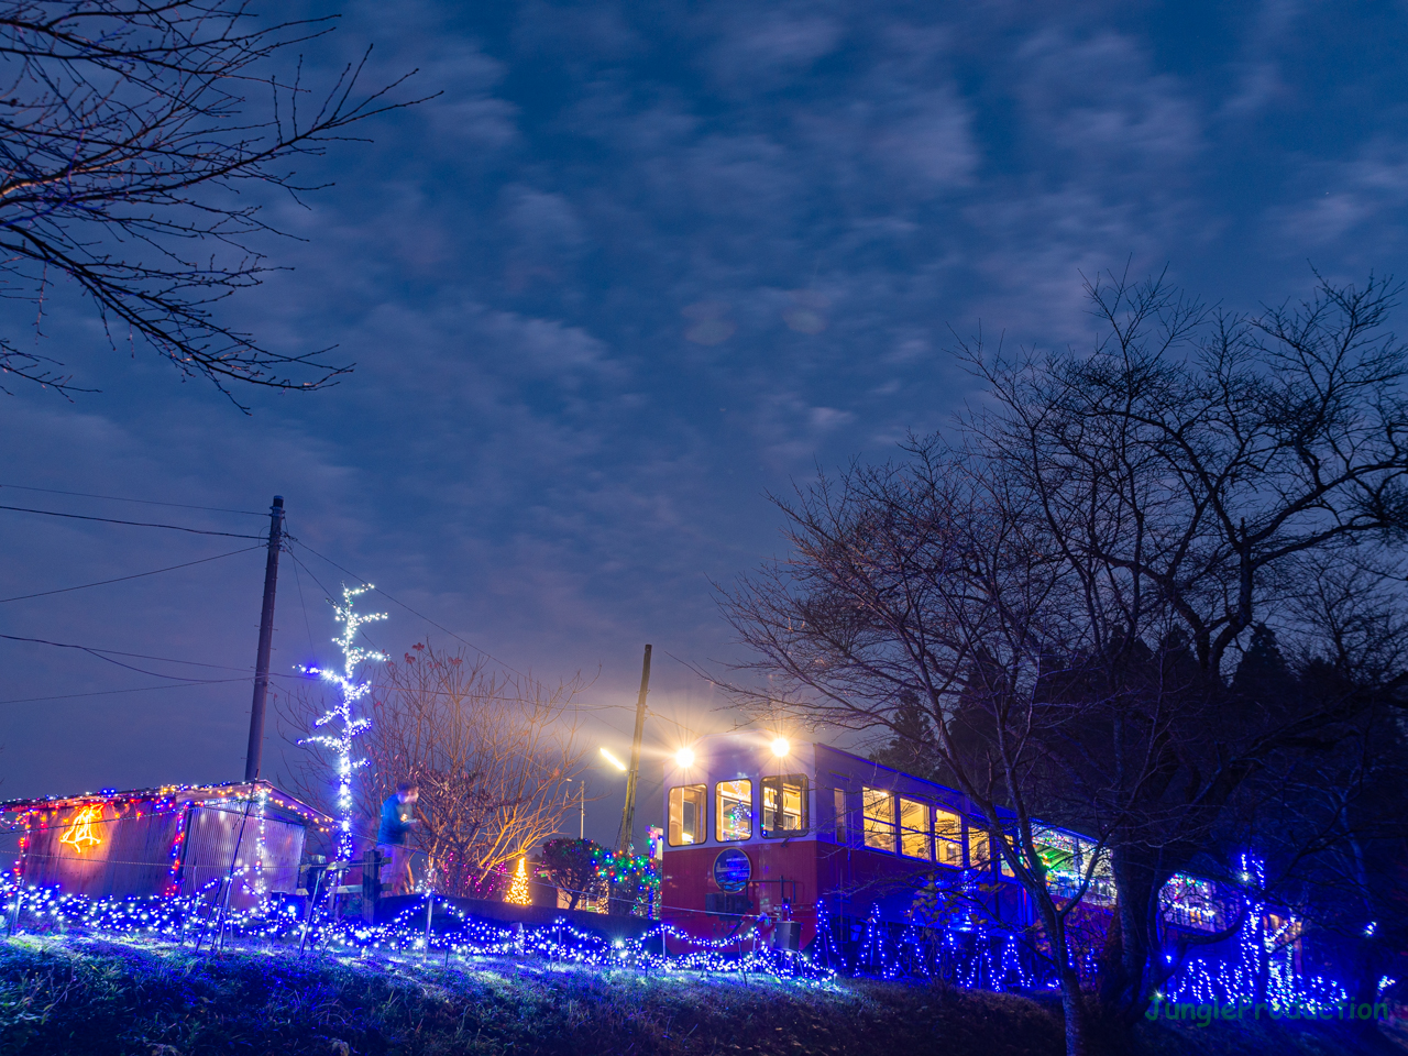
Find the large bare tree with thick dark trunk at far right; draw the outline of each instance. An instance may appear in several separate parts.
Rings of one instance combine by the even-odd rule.
[[[1259,621],[1316,634],[1293,618],[1307,579],[1398,569],[1408,355],[1387,320],[1400,290],[1322,280],[1307,301],[1239,317],[1157,280],[1097,282],[1093,355],[964,349],[994,396],[970,442],[1019,482],[1059,548],[1093,646],[1087,691],[1111,703],[1064,759],[1108,793],[1119,928],[1104,1000],[1125,1021],[1166,972],[1159,891],[1240,783],[1280,743],[1347,734],[1352,698],[1295,711],[1228,700],[1225,677]]]

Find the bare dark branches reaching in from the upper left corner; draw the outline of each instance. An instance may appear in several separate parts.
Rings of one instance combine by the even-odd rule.
[[[408,101],[358,94],[362,63],[313,94],[275,59],[329,20],[260,25],[244,0],[0,0],[0,287],[37,334],[59,279],[94,304],[110,346],[142,341],[187,376],[317,389],[348,366],[280,352],[214,313],[269,266],[258,197],[294,199],[293,159]],[[72,387],[0,334],[0,370]]]

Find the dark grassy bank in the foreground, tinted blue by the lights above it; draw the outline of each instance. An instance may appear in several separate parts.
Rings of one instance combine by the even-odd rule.
[[[1367,1046],[1367,1048],[1366,1048]],[[1335,1029],[1143,1031],[1148,1056],[1404,1053]],[[659,1053],[1060,1056],[1056,1010],[1010,994],[484,962],[435,967],[191,953],[96,939],[0,942],[0,1053]]]

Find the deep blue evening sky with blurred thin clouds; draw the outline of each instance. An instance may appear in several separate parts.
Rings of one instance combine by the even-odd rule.
[[[735,656],[711,584],[777,552],[767,493],[979,398],[955,332],[1088,346],[1081,276],[1102,269],[1167,268],[1233,311],[1308,291],[1311,265],[1408,276],[1402,3],[335,10],[310,76],[373,42],[367,84],[420,68],[410,92],[442,94],[304,163],[335,183],[307,208],[269,199],[296,238],[262,248],[290,270],[222,318],[356,372],[239,391],[245,415],[139,346],[106,351],[61,286],[38,351],[101,393],[0,400],[0,484],[256,513],[284,496],[303,562],[279,583],[284,676],[332,659],[325,598],[366,577],[507,665],[594,676],[614,750],[653,642],[652,704],[683,727],[652,718],[648,739],[673,748],[732,722],[687,665]],[[32,341],[32,306],[0,321]],[[11,598],[253,543],[0,511],[0,545]],[[165,658],[0,641],[0,798],[238,779],[262,574],[248,551],[0,603],[7,635]],[[393,655],[458,645],[375,607]],[[211,681],[151,689],[173,674]],[[276,777],[280,750],[272,732]],[[618,804],[589,829],[612,836]]]

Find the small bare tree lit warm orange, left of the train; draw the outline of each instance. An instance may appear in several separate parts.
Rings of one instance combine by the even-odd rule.
[[[434,862],[438,890],[491,895],[504,865],[562,831],[562,784],[586,769],[574,707],[582,687],[417,643],[375,674],[372,727],[358,741],[370,760],[358,788],[362,815],[375,828],[397,781],[417,781],[413,839]],[[282,707],[294,731],[315,712],[315,701],[296,697]],[[317,794],[327,773],[310,756],[300,790]]]

